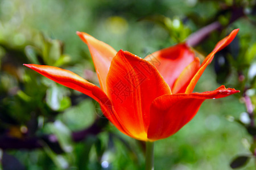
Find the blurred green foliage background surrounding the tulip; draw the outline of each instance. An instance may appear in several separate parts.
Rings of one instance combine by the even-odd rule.
[[[143,142],[126,137],[108,124],[89,97],[22,64],[62,67],[98,84],[89,51],[76,31],[87,32],[116,50],[144,57],[219,22],[221,31],[210,33],[195,47],[199,56],[206,56],[232,29],[240,28],[240,32],[216,55],[195,91],[214,90],[220,82],[241,94],[205,101],[188,125],[172,137],[157,141],[155,169],[230,169],[230,160],[237,155],[242,157],[231,167],[248,162],[242,169],[254,169],[254,160],[249,158],[256,144],[245,128],[251,132],[255,127],[249,125],[242,97],[247,95],[256,104],[255,3],[1,0],[1,168],[143,169]],[[236,8],[241,8],[246,17],[230,23]]]

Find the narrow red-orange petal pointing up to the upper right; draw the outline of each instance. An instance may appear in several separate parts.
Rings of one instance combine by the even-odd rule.
[[[239,29],[234,29],[229,36],[226,36],[224,39],[219,41],[213,51],[204,59],[203,63],[200,66],[200,69],[197,71],[195,76],[191,79],[191,82],[189,83],[185,93],[190,94],[193,92],[197,81],[199,80],[200,76],[204,73],[204,70],[206,67],[212,62],[212,59],[214,57],[214,54],[216,54],[221,49],[225,48],[227,45],[230,44],[231,41],[233,41],[234,37],[236,37]]]

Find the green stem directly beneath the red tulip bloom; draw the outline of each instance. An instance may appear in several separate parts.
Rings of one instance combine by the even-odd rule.
[[[154,170],[154,142],[146,142],[145,170]]]

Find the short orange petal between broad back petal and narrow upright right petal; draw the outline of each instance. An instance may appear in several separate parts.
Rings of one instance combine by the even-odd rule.
[[[198,57],[195,58],[185,69],[181,72],[179,77],[176,79],[174,83],[174,87],[172,88],[172,94],[184,93],[189,82],[193,78],[193,76],[197,73],[200,68],[200,59]]]

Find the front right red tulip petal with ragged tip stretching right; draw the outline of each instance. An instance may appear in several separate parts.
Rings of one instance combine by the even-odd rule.
[[[237,90],[221,86],[214,91],[160,96],[150,107],[148,139],[156,141],[170,137],[187,124],[205,99],[217,99],[235,94]]]

